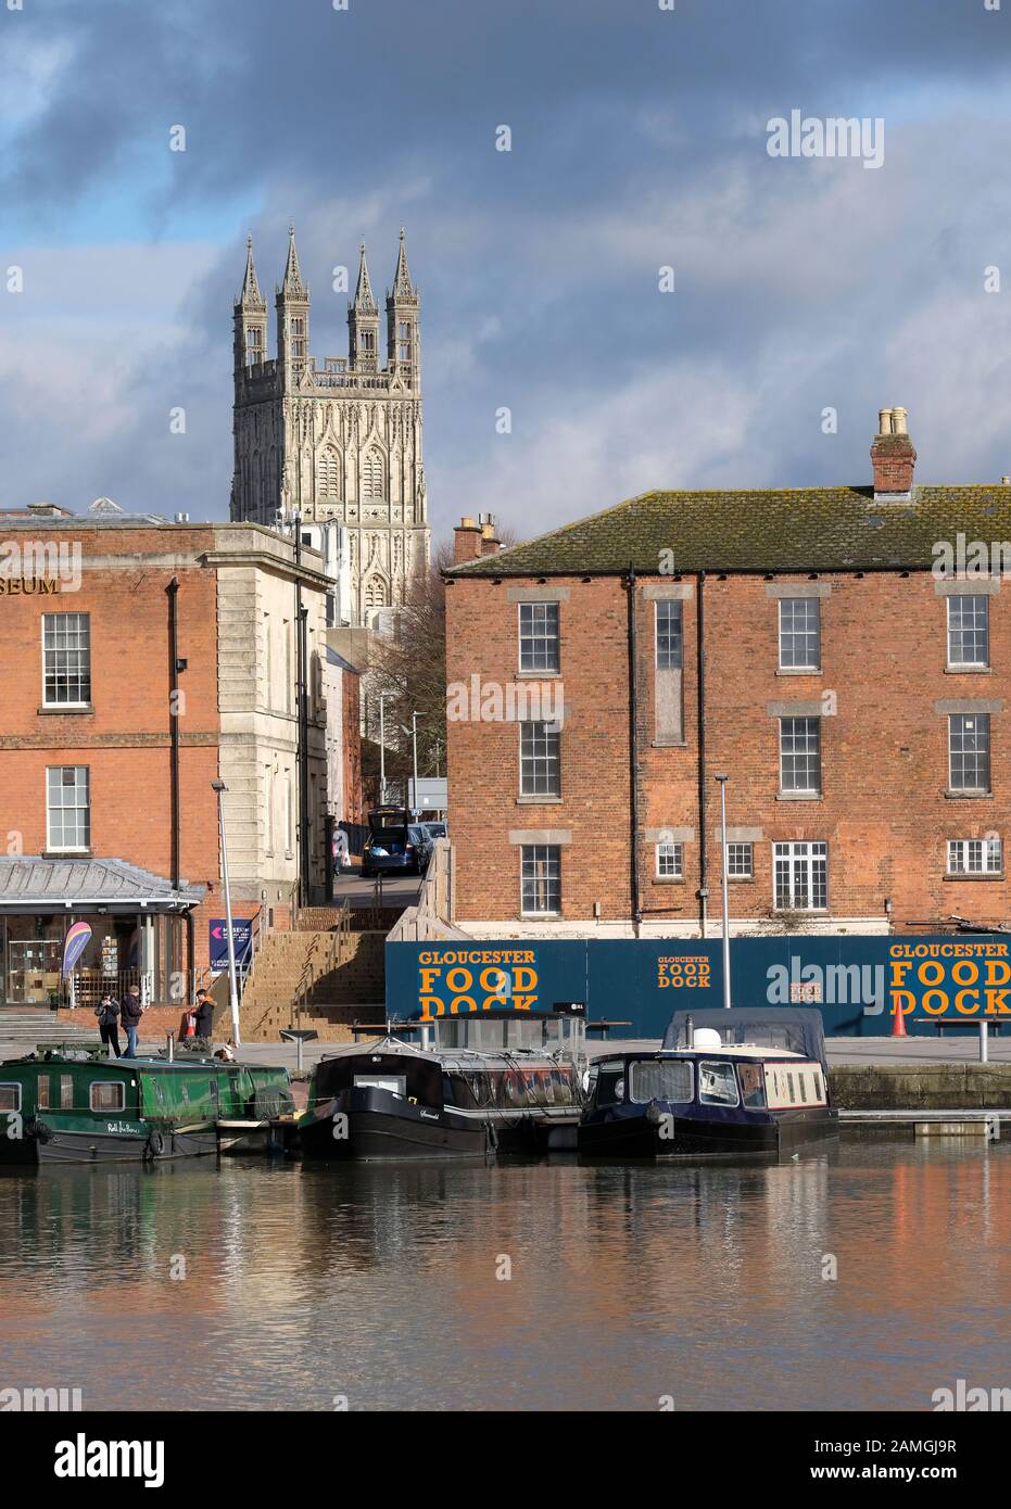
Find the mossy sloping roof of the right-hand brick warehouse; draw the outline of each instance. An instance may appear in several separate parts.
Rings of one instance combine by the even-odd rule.
[[[914,487],[910,501],[872,487],[647,492],[551,534],[451,567],[454,576],[656,575],[923,569],[937,542],[1011,540],[1011,486]]]

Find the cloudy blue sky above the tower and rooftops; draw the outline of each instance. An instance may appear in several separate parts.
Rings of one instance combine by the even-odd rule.
[[[890,404],[919,480],[1011,472],[1009,72],[1011,0],[0,0],[3,506],[225,518],[244,237],[272,290],[290,219],[317,356],[407,228],[436,533],[866,483]],[[884,164],[771,158],[794,109]]]

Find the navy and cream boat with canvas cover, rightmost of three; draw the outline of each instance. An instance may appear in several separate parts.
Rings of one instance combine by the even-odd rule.
[[[653,1052],[590,1065],[579,1153],[747,1157],[837,1136],[821,1013],[679,1011]]]

